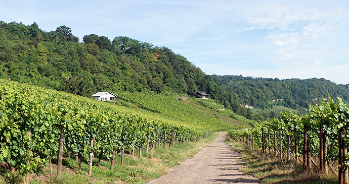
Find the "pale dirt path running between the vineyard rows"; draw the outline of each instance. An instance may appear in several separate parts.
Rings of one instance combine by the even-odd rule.
[[[247,175],[241,175],[240,154],[224,141],[226,134],[221,134],[209,146],[199,151],[194,157],[183,161],[182,165],[171,168],[170,173],[153,179],[148,183],[259,183]]]

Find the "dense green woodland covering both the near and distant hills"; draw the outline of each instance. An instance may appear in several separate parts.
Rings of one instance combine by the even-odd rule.
[[[85,35],[79,42],[71,32],[67,26],[46,32],[35,22],[1,21],[0,77],[81,96],[129,91],[192,97],[198,90],[205,91],[226,108],[255,120],[270,114],[256,116],[240,104],[301,109],[328,95],[349,99],[347,86],[325,79],[211,76],[164,46],[96,34]]]

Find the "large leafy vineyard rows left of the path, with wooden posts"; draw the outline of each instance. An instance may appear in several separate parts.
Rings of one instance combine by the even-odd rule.
[[[26,175],[25,182],[40,167],[49,164],[51,168],[52,159],[58,159],[57,177],[60,177],[63,155],[76,158],[79,165],[83,160],[90,161],[91,175],[93,155],[99,161],[109,159],[113,169],[116,155],[121,155],[123,164],[125,149],[132,153],[139,149],[142,157],[142,148],[148,152],[155,145],[173,146],[175,140],[180,144],[197,141],[213,131],[232,128],[221,121],[205,124],[208,122],[205,118],[214,120],[210,115],[199,119],[201,124],[194,117],[183,117],[187,126],[170,124],[120,111],[110,103],[7,80],[0,80],[0,92],[0,163]],[[171,108],[174,110],[176,106]],[[195,113],[195,110],[188,112]]]

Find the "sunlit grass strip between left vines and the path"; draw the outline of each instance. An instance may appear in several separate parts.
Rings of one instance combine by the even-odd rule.
[[[163,149],[155,149],[154,152],[145,153],[139,156],[139,150],[135,150],[135,155],[125,154],[124,165],[120,165],[120,156],[115,159],[114,169],[109,170],[110,161],[102,160],[101,167],[97,166],[97,159],[94,159],[92,176],[88,176],[89,165],[87,162],[81,163],[81,170],[78,169],[78,162],[75,159],[65,158],[63,160],[63,170],[61,178],[56,178],[57,166],[53,164],[53,174],[50,176],[49,167],[43,167],[39,173],[31,174],[31,184],[39,183],[146,183],[151,179],[160,177],[169,172],[173,166],[189,157],[194,156],[198,151],[209,145],[220,133],[214,133],[207,139],[199,142],[187,142],[181,145],[174,145]],[[11,173],[11,174],[9,174]],[[7,177],[6,175],[10,175]],[[5,177],[4,177],[5,176]],[[11,181],[17,179],[15,182]],[[18,177],[16,172],[0,173],[0,184],[21,183],[23,178]]]

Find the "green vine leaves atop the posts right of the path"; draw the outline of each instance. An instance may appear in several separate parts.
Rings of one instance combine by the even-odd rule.
[[[340,130],[343,131],[344,143],[346,145],[349,144],[349,108],[339,97],[337,97],[336,102],[331,97],[328,97],[326,100],[324,99],[321,104],[310,105],[309,115],[299,117],[295,113],[284,111],[281,112],[281,120],[274,118],[271,121],[260,122],[253,129],[229,131],[228,135],[237,139],[238,136],[249,136],[253,133],[256,138],[255,145],[260,146],[261,129],[275,131],[275,133],[282,130],[282,135],[291,136],[290,146],[294,150],[294,136],[298,136],[298,145],[302,145],[303,133],[306,130],[307,139],[311,142],[311,154],[318,155],[320,151],[319,135],[320,130],[323,130],[326,135],[327,159],[332,161],[338,160],[338,134]],[[283,138],[282,144],[287,145],[287,139]],[[283,150],[285,150],[285,146]],[[345,161],[342,163],[343,166],[346,166],[348,157],[349,154],[345,156]]]

